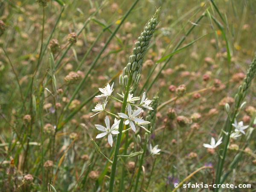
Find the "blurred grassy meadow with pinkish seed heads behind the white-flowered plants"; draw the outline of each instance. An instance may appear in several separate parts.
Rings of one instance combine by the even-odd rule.
[[[90,139],[109,158],[115,144],[95,139],[94,124],[104,125],[106,113],[90,118],[101,101],[94,96],[108,82],[120,93],[119,75],[159,7],[160,23],[136,93],[146,90],[149,99],[158,93],[150,143],[161,151],[145,152],[137,191],[169,192],[185,178],[215,182],[219,153],[203,143],[222,133],[224,105],[233,107],[253,60],[256,1],[137,1],[130,9],[134,0],[0,0],[0,191],[54,190],[48,183],[61,192],[108,191],[110,163]],[[177,45],[182,49],[175,52]],[[251,188],[223,191],[256,190],[255,85],[254,80],[237,116],[252,132],[230,140],[223,173],[228,173],[225,182]],[[120,109],[120,103],[108,103],[108,111]],[[128,151],[140,151],[145,131],[128,136]],[[120,151],[124,143],[123,138]],[[230,168],[237,154],[239,161]],[[114,191],[134,190],[139,157],[120,158]]]

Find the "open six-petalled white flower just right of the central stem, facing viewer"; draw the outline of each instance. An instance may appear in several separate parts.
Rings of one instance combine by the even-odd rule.
[[[137,116],[141,113],[141,108],[139,108],[139,109],[137,109],[136,111],[133,112],[131,110],[131,105],[128,105],[127,111],[128,111],[128,115],[126,115],[125,113],[118,113],[118,115],[120,117],[124,118],[124,119],[127,119],[125,121],[125,125],[128,125],[130,123],[131,129],[135,132],[136,128],[135,128],[134,122],[135,123],[136,122],[138,122],[138,123],[144,123],[145,122],[143,119],[137,118]]]

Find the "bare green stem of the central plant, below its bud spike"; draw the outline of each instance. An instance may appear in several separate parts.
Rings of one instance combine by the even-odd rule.
[[[131,82],[132,82],[132,76],[129,77],[128,83],[127,83],[126,88],[125,88],[125,96],[124,96],[123,103],[122,103],[121,113],[125,113],[125,109],[126,109],[126,105],[127,105],[127,98],[128,98],[129,88],[130,88]],[[117,138],[116,138],[116,146],[115,146],[115,152],[114,152],[114,157],[113,157],[113,164],[112,164],[112,167],[111,167],[111,176],[110,176],[108,192],[113,192],[113,188],[114,188],[114,181],[115,181],[115,175],[116,175],[116,165],[117,165],[117,158],[118,158],[117,155],[119,154],[119,147],[120,147],[121,138],[122,138],[123,122],[124,122],[124,119],[121,118],[121,121],[119,123],[119,128],[118,128],[119,129],[119,134],[117,134]]]

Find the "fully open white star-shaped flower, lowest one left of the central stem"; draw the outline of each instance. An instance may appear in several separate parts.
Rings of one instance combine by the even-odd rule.
[[[105,124],[106,124],[106,128],[102,125],[95,125],[95,127],[99,130],[102,131],[103,133],[98,134],[96,136],[96,139],[104,137],[105,135],[108,134],[108,143],[110,144],[110,146],[112,147],[113,145],[113,138],[112,138],[112,134],[119,134],[119,131],[115,130],[116,126],[119,125],[120,120],[116,121],[111,127],[110,127],[110,122],[109,122],[109,118],[108,116],[106,116],[105,118]]]

